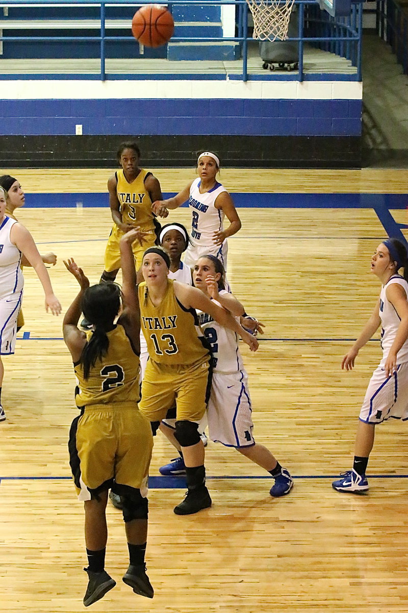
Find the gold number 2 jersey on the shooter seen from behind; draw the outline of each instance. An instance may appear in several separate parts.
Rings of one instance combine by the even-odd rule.
[[[87,340],[93,332],[87,332]],[[76,406],[135,402],[140,400],[139,356],[133,351],[125,329],[117,324],[107,332],[109,348],[102,360],[91,367],[89,378],[84,379],[81,364],[74,364],[79,389],[76,390]]]

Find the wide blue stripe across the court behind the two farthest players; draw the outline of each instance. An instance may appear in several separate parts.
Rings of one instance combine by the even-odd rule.
[[[164,193],[163,197],[174,196]],[[26,208],[106,208],[108,193],[26,194]],[[237,208],[407,208],[406,194],[277,194],[231,192]],[[106,203],[103,206],[103,203]],[[183,207],[187,207],[184,204]]]

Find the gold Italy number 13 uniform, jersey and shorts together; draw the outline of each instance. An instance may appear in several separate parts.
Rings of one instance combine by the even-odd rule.
[[[140,325],[149,351],[139,408],[150,421],[161,421],[176,403],[178,420],[198,422],[206,411],[212,369],[196,311],[177,300],[172,279],[158,307],[150,300],[146,283],[139,284],[138,293]]]

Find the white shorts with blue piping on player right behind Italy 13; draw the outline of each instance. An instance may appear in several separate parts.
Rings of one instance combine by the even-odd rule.
[[[212,373],[207,418],[212,441],[227,447],[250,447],[255,444],[251,397],[245,370],[232,375]]]

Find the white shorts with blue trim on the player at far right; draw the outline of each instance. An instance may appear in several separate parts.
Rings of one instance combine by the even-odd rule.
[[[408,419],[408,362],[399,364],[396,373],[388,378],[379,366],[367,387],[360,421],[380,424],[390,417]]]

